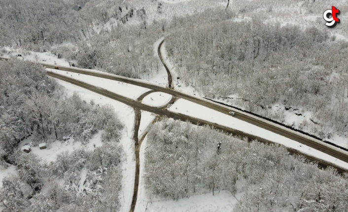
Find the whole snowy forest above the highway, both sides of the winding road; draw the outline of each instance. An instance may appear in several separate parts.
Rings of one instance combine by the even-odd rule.
[[[0,46],[21,48],[23,55],[50,51],[78,67],[150,79],[161,68],[152,45],[165,36],[185,87],[322,139],[347,136],[347,40],[339,39],[347,30],[322,28],[315,14],[324,2],[235,0],[225,11],[223,1],[206,9],[202,0],[195,12],[189,2],[174,9],[136,0],[5,0]],[[285,120],[288,108],[298,121]]]

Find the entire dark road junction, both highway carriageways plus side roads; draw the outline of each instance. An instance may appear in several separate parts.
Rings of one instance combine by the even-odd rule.
[[[208,107],[210,109],[213,109],[215,111],[218,111],[218,112],[221,112],[221,113],[224,113],[227,115],[230,111],[233,111],[233,112],[235,112],[235,118],[237,118],[237,119],[240,119],[242,121],[246,121],[246,122],[251,123],[253,125],[262,127],[266,130],[277,133],[279,135],[282,135],[284,137],[287,137],[289,139],[297,141],[301,144],[307,145],[310,148],[322,151],[326,154],[329,154],[333,157],[336,157],[336,158],[348,163],[348,152],[340,150],[336,147],[325,144],[319,140],[315,140],[314,138],[311,138],[309,136],[301,135],[298,132],[292,131],[291,129],[287,129],[287,128],[280,126],[276,123],[270,123],[268,121],[262,120],[261,118],[254,117],[252,115],[243,113],[241,111],[237,111],[235,109],[231,109],[231,108],[228,108],[228,107],[223,106],[223,105],[218,105],[214,102],[209,102],[208,100],[205,100],[203,98],[199,98],[199,97],[188,95],[188,94],[185,94],[185,93],[182,93],[179,91],[175,91],[174,87],[173,87],[172,75],[170,73],[168,66],[166,65],[165,61],[163,60],[162,55],[161,55],[160,48],[161,48],[163,43],[164,43],[164,40],[160,43],[160,45],[158,47],[158,54],[159,54],[160,60],[162,61],[163,65],[165,66],[166,71],[168,73],[168,88],[160,87],[160,86],[157,86],[155,84],[147,83],[147,82],[140,81],[140,80],[121,77],[121,76],[117,76],[117,75],[111,75],[111,74],[107,74],[107,73],[103,73],[103,72],[85,70],[85,69],[80,69],[80,68],[75,68],[75,67],[65,67],[65,66],[58,66],[58,65],[41,63],[41,65],[48,68],[47,75],[50,77],[53,77],[53,78],[56,78],[59,80],[63,80],[63,81],[66,81],[68,83],[71,83],[73,85],[82,87],[84,89],[99,93],[101,95],[104,95],[104,96],[109,97],[111,99],[114,99],[116,101],[122,102],[122,103],[127,104],[127,105],[134,108],[135,113],[136,113],[135,133],[134,133],[135,154],[136,154],[136,173],[135,173],[136,177],[135,177],[134,194],[133,194],[132,205],[131,205],[131,210],[130,210],[131,212],[134,212],[136,202],[137,202],[138,187],[139,187],[139,166],[140,166],[139,150],[140,150],[141,141],[144,138],[144,135],[142,136],[142,138],[140,138],[140,139],[138,138],[139,123],[140,123],[140,119],[141,119],[141,110],[148,111],[148,112],[154,113],[154,114],[156,114],[158,116],[162,116],[162,117],[174,118],[176,120],[181,120],[181,121],[189,121],[189,122],[191,122],[193,124],[197,124],[197,125],[213,126],[216,129],[219,129],[221,131],[224,131],[226,133],[229,133],[229,134],[232,134],[235,136],[247,137],[249,141],[257,140],[259,142],[263,142],[263,143],[267,143],[267,144],[274,144],[274,142],[272,142],[272,141],[269,141],[267,139],[260,138],[260,137],[245,133],[243,131],[239,131],[239,130],[236,130],[236,129],[233,129],[230,127],[222,126],[222,125],[219,125],[217,123],[209,122],[206,120],[197,119],[197,118],[183,115],[180,113],[174,113],[174,112],[168,111],[166,109],[166,105],[161,107],[161,108],[156,108],[156,107],[151,107],[151,106],[142,104],[141,99],[151,92],[158,91],[158,92],[165,92],[165,93],[171,94],[173,96],[172,101],[170,102],[171,104],[174,102],[175,99],[182,98],[182,99],[186,99],[188,101],[203,105],[205,107]],[[7,59],[0,57],[0,61],[7,61]],[[70,78],[68,76],[64,76],[64,75],[55,73],[54,69],[63,70],[63,71],[70,71],[70,72],[74,72],[74,73],[85,74],[85,75],[110,79],[110,80],[114,80],[114,81],[124,82],[124,83],[128,83],[128,84],[136,85],[139,87],[147,88],[147,89],[150,89],[151,91],[147,91],[146,93],[142,94],[137,100],[133,100],[133,99],[124,97],[122,95],[119,95],[117,93],[107,91],[103,88],[93,86],[93,85],[87,84],[85,82]],[[337,171],[340,173],[347,173],[348,172],[348,170],[346,170],[345,168],[340,167],[336,164],[330,163],[328,161],[325,161],[322,158],[317,158],[317,157],[314,157],[312,155],[308,155],[304,152],[301,152],[301,151],[298,151],[298,150],[295,150],[292,148],[286,147],[286,149],[292,154],[303,155],[307,159],[317,162],[320,167],[332,166],[332,167],[336,168]]]

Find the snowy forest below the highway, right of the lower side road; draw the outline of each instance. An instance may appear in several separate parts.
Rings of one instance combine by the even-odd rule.
[[[154,200],[221,190],[242,193],[234,212],[340,212],[348,207],[347,175],[319,170],[283,147],[168,119],[148,133],[145,179]]]

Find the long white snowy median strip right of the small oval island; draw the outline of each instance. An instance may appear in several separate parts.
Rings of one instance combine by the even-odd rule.
[[[175,113],[181,113],[184,115],[188,115],[191,117],[195,117],[198,119],[210,121],[213,123],[217,123],[219,125],[227,126],[236,130],[243,131],[245,133],[258,136],[260,138],[264,138],[270,141],[273,141],[278,144],[282,144],[285,147],[290,147],[293,149],[296,149],[298,151],[302,151],[304,153],[307,153],[309,155],[313,155],[317,158],[320,158],[322,160],[331,162],[333,164],[336,164],[338,166],[341,166],[345,169],[348,169],[348,163],[339,160],[333,156],[330,156],[326,153],[323,153],[321,151],[315,150],[313,148],[310,148],[306,145],[303,145],[297,141],[293,141],[289,138],[286,138],[284,136],[278,135],[274,132],[268,131],[266,129],[263,129],[261,127],[252,125],[248,122],[241,121],[239,119],[236,119],[228,114],[223,114],[218,111],[212,110],[210,108],[207,108],[205,106],[184,100],[184,99],[178,99],[172,107],[169,108],[170,111]]]

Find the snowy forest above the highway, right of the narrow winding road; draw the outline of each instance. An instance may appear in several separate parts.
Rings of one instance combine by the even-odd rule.
[[[313,121],[292,126],[323,139],[347,136],[348,42],[314,26],[234,15],[217,9],[171,22],[166,49],[179,82],[280,122],[284,107],[311,112]]]

